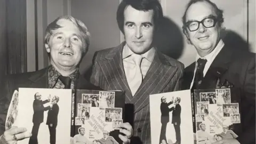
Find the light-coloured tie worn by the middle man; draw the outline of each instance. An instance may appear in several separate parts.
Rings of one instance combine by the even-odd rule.
[[[135,67],[134,67],[134,76],[132,79],[130,79],[130,89],[132,91],[132,95],[134,96],[134,94],[137,92],[137,90],[139,89],[141,82],[142,82],[142,74],[141,74],[141,69],[140,69],[140,63],[142,60],[142,56],[139,54],[133,54],[133,61],[135,63]]]

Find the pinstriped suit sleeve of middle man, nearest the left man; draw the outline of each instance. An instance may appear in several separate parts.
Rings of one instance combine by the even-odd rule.
[[[95,52],[92,60],[92,72],[90,76],[90,83],[95,86],[99,86],[99,70],[100,66],[97,62],[98,52]]]

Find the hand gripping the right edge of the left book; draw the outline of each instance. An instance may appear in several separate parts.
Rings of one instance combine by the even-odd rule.
[[[123,141],[124,144],[129,144],[131,142],[131,137],[133,135],[133,129],[130,123],[122,123],[118,125],[118,128],[121,128],[119,132],[125,134],[119,134],[118,137]]]

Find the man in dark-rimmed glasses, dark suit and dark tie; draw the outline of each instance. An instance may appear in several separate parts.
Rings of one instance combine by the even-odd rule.
[[[185,89],[241,88],[242,127],[234,127],[241,143],[255,143],[255,54],[222,41],[223,11],[209,0],[193,0],[182,17],[183,33],[197,51],[185,69]],[[228,83],[229,85],[226,85]],[[232,98],[231,98],[232,99]],[[240,132],[240,133],[238,133]],[[232,140],[222,140],[224,143]]]

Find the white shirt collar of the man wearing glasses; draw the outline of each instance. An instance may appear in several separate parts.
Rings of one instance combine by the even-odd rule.
[[[213,61],[215,59],[215,57],[217,56],[217,54],[221,51],[221,49],[223,48],[225,44],[223,43],[222,39],[220,39],[219,43],[217,44],[217,46],[215,47],[215,49],[205,55],[204,57],[201,57],[198,53],[196,55],[196,61],[201,58],[201,59],[206,59],[207,61]]]

